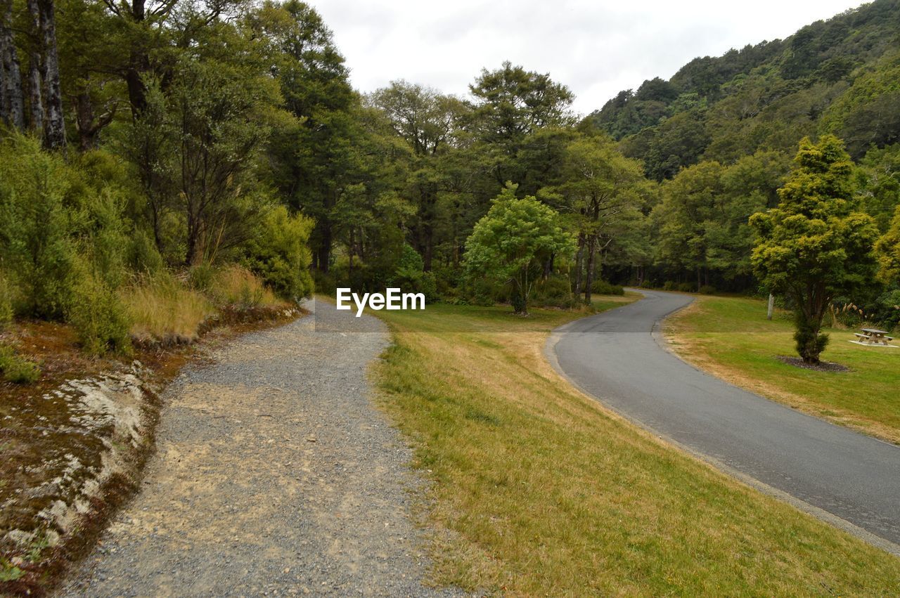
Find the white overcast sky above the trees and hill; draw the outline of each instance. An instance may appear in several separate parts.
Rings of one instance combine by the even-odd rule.
[[[856,0],[311,0],[363,92],[395,79],[464,96],[504,60],[550,73],[576,112],[622,89],[669,78],[698,56],[783,39]]]

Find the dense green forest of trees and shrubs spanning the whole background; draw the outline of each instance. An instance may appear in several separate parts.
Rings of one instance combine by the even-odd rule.
[[[464,98],[361,94],[297,0],[3,0],[0,57],[0,322],[67,322],[89,353],[337,286],[522,313],[774,291],[820,323],[900,320],[897,0],[583,118],[509,62]],[[812,299],[797,272],[826,280]]]

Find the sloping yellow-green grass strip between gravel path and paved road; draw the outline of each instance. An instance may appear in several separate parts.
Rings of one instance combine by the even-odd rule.
[[[599,308],[622,299],[599,301]],[[611,415],[545,361],[577,314],[378,312],[383,408],[432,480],[435,581],[511,595],[896,595],[900,560]]]

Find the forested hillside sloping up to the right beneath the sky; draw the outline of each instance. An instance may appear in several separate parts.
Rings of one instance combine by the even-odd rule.
[[[799,139],[826,132],[860,160],[900,135],[900,1],[876,0],[786,40],[694,58],[670,80],[622,91],[585,120],[643,159],[658,181],[704,160],[793,154]]]

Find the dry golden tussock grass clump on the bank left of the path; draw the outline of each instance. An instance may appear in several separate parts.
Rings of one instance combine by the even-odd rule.
[[[131,320],[131,335],[141,341],[193,342],[203,321],[215,313],[209,299],[166,271],[139,277],[120,296]]]

